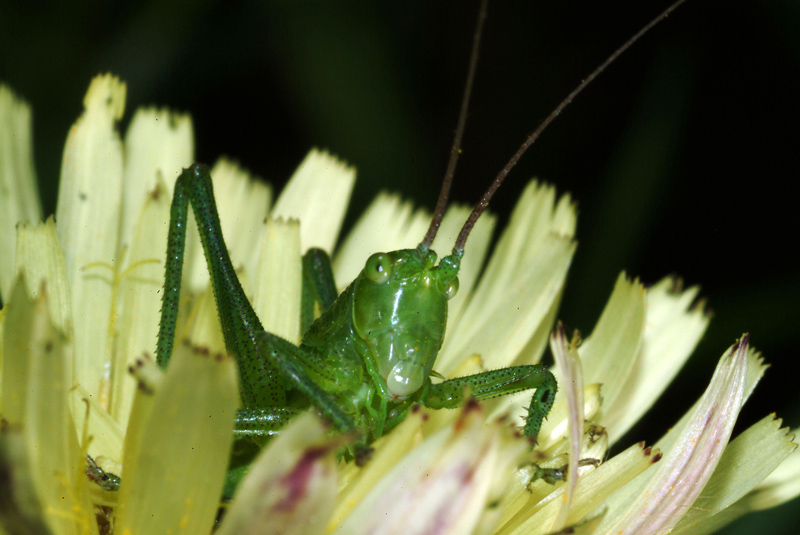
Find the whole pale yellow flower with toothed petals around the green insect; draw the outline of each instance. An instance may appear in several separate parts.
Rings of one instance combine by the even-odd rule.
[[[121,139],[125,86],[112,76],[92,82],[84,105],[64,151],[56,219],[40,223],[30,112],[0,87],[0,533],[210,533],[238,394],[196,231],[178,325],[193,345],[177,344],[166,372],[146,356],[170,192],[193,160],[191,122],[139,110]],[[269,187],[235,164],[221,160],[212,175],[256,312],[267,330],[299,342],[301,254],[333,250],[354,169],[311,151],[274,204]],[[450,208],[434,249],[450,249],[466,214]],[[380,195],[339,247],[336,280],[352,280],[373,252],[414,247],[428,217]],[[309,413],[261,453],[217,532],[709,533],[799,494],[795,444],[774,417],[729,442],[764,369],[746,338],[654,448],[634,444],[605,459],[708,318],[692,307],[697,288],[665,279],[645,289],[622,274],[585,341],[553,331],[575,224],[568,196],[532,182],[479,278],[494,225],[484,216],[436,363],[456,376],[535,363],[549,345],[560,393],[535,452],[516,432],[524,392],[461,411],[412,410],[363,468],[337,462],[347,437]],[[119,491],[90,481],[87,454],[122,476]],[[531,482],[534,462],[567,465],[566,483]]]

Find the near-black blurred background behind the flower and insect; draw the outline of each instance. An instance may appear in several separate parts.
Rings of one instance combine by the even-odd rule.
[[[477,2],[69,3],[0,0],[0,79],[34,109],[46,212],[89,80],[112,71],[132,111],[191,112],[197,159],[238,159],[278,187],[312,146],[358,167],[348,221],[380,189],[432,207],[466,76]],[[525,135],[664,2],[489,6],[454,197],[473,203]],[[714,318],[624,440],[656,440],[743,332],[772,364],[739,427],[800,425],[796,324],[800,4],[691,0],[548,130],[498,193],[532,176],[580,207],[560,316],[591,332],[620,270],[702,285]],[[757,462],[758,459],[754,459]],[[796,533],[797,505],[725,533]],[[737,531],[738,529],[738,531]]]

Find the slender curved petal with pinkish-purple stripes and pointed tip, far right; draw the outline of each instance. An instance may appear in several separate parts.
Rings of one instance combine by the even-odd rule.
[[[622,522],[608,533],[668,533],[705,487],[744,399],[748,336],[731,346],[688,425]]]

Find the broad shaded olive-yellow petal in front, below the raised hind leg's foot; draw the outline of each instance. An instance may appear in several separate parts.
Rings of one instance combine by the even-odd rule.
[[[154,366],[151,364],[151,366]],[[209,533],[225,479],[236,407],[236,366],[179,344],[144,410],[131,415],[116,529]]]

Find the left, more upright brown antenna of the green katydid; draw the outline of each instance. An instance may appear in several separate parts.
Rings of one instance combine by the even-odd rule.
[[[464,86],[464,96],[461,98],[461,111],[458,114],[458,126],[456,127],[456,135],[453,139],[453,146],[450,148],[450,160],[447,162],[447,171],[444,174],[442,181],[442,189],[439,192],[439,200],[436,201],[436,209],[433,211],[433,219],[431,219],[431,226],[428,227],[428,232],[417,246],[417,250],[421,253],[427,253],[433,244],[436,233],[439,231],[439,225],[442,223],[444,212],[447,209],[447,199],[450,196],[450,186],[453,184],[453,176],[456,172],[456,164],[458,157],[461,155],[461,138],[464,136],[464,127],[467,124],[467,109],[469,108],[469,99],[472,95],[472,82],[475,80],[475,71],[478,66],[478,51],[481,44],[481,34],[483,33],[483,23],[486,20],[486,5],[489,0],[481,2],[480,11],[478,12],[478,22],[475,25],[475,34],[472,37],[472,53],[469,60],[469,71],[467,72],[467,83]]]

